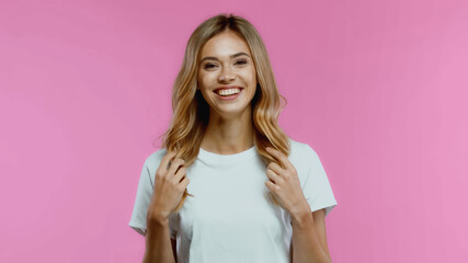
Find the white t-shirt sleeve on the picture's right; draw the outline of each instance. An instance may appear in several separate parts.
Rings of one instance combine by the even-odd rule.
[[[338,203],[319,156],[309,145],[306,145],[305,150],[305,156],[307,157],[306,161],[309,163],[309,168],[304,182],[303,192],[310,206],[310,210],[316,211],[324,208],[327,217]]]

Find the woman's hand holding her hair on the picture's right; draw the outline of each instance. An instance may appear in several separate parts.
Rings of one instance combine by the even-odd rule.
[[[266,151],[274,156],[283,167],[276,162],[270,162],[266,168],[266,176],[271,181],[265,182],[266,187],[289,215],[308,209],[309,205],[304,196],[296,168],[283,152],[271,147],[267,147]]]

